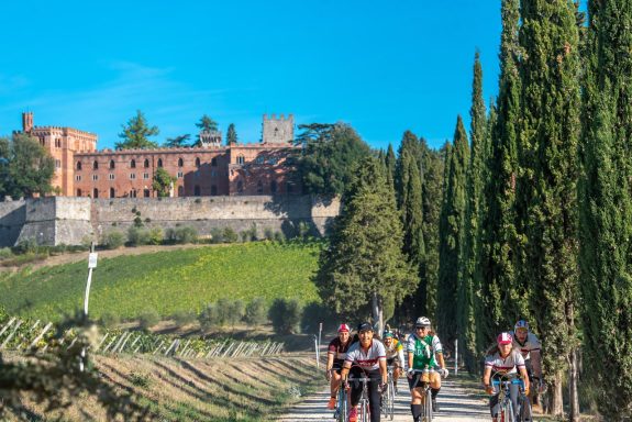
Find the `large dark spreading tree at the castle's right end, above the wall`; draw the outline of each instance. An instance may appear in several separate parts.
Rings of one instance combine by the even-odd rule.
[[[303,145],[298,169],[308,193],[343,195],[357,163],[370,155],[369,146],[347,124],[299,125],[297,143]]]

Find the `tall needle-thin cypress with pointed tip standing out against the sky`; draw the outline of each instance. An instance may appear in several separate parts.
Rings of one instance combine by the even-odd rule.
[[[481,200],[483,166],[487,116],[483,100],[483,68],[480,56],[474,56],[474,81],[472,89],[470,154],[466,175],[465,219],[463,243],[459,256],[458,278],[458,338],[463,345],[465,366],[473,371],[476,368],[476,315],[474,311],[474,277],[479,253],[478,219]]]

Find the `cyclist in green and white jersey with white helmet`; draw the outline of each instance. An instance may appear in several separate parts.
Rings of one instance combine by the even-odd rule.
[[[419,377],[413,376],[414,369],[439,368],[439,371],[431,373],[430,388],[432,391],[432,410],[436,411],[436,395],[441,390],[441,376],[447,377],[445,360],[443,359],[443,346],[439,337],[431,331],[430,320],[420,316],[414,323],[414,333],[408,337],[408,385],[410,387],[411,401],[410,411],[415,422],[421,419],[422,388],[418,386]]]

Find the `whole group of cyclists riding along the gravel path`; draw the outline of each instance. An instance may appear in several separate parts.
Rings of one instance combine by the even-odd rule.
[[[496,344],[487,351],[486,355],[483,384],[485,390],[491,396],[489,409],[492,421],[497,422],[500,420],[498,400],[500,391],[494,387],[492,380],[520,375],[525,396],[529,396],[532,384],[541,387],[540,341],[529,330],[526,321],[521,320],[515,323],[513,331],[499,334]],[[425,316],[418,318],[414,331],[402,338],[388,329],[379,338],[375,335],[374,326],[369,322],[358,324],[357,333],[352,337],[350,326],[341,324],[337,329],[337,336],[330,342],[328,348],[325,376],[330,380],[331,391],[328,409],[335,409],[337,391],[344,388],[348,390],[347,420],[356,422],[363,385],[353,380],[367,377],[370,379],[368,382],[370,421],[378,422],[380,420],[380,396],[388,381],[387,368],[389,366],[392,368],[395,386],[406,370],[411,391],[410,411],[415,422],[421,421],[422,417],[423,386],[419,382],[420,378],[414,375],[426,368],[434,369],[430,373],[429,384],[432,409],[437,411],[436,397],[441,390],[441,379],[448,376],[448,370],[445,366],[441,341]],[[518,409],[518,385],[510,387],[510,397],[513,409]],[[531,414],[524,420],[531,420]]]

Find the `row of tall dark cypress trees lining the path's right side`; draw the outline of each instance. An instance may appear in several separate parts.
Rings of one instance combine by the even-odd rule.
[[[609,420],[632,417],[632,3],[502,0],[499,96],[475,56],[470,140],[457,119],[440,221],[437,323],[478,369],[528,319],[551,411],[579,414],[583,376]],[[457,303],[457,307],[452,306]]]

